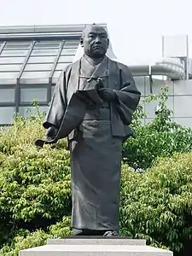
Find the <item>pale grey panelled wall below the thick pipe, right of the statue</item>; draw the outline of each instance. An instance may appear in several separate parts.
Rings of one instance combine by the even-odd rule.
[[[142,98],[151,94],[148,78],[137,77],[135,81]],[[160,88],[165,85],[169,86],[167,107],[173,111],[172,119],[181,125],[192,127],[192,80],[172,82],[153,79],[152,93],[160,94]],[[144,104],[144,110],[148,113],[148,118],[143,120],[144,123],[154,118],[156,106],[157,102]]]

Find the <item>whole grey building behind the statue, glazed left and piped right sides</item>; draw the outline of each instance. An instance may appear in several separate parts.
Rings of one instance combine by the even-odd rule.
[[[107,28],[106,24],[100,24]],[[82,55],[79,38],[86,25],[0,27],[0,125],[11,125],[14,113],[34,113],[32,101],[46,111],[61,70]],[[108,56],[118,61],[112,46]],[[190,102],[192,81],[185,79],[181,61],[168,60],[154,66],[130,67],[142,96],[160,93],[169,85],[168,106],[172,119],[192,127]],[[155,75],[166,76],[155,79]],[[144,105],[148,119],[154,118],[156,102]]]

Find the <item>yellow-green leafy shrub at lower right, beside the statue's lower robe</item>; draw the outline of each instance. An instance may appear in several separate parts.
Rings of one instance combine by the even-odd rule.
[[[192,153],[156,160],[143,173],[123,166],[122,234],[179,252],[192,241]]]

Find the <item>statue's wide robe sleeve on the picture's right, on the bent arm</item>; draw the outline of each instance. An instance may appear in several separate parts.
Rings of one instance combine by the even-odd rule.
[[[131,74],[129,67],[123,66],[119,69],[120,89],[113,90],[117,96],[117,111],[120,119],[125,125],[130,125],[132,114],[136,111],[141,92]]]

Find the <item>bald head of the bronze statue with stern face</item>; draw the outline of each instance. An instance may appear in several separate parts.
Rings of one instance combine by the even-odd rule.
[[[108,33],[102,26],[87,26],[80,38],[80,44],[84,47],[84,54],[90,58],[101,58],[108,50]]]

